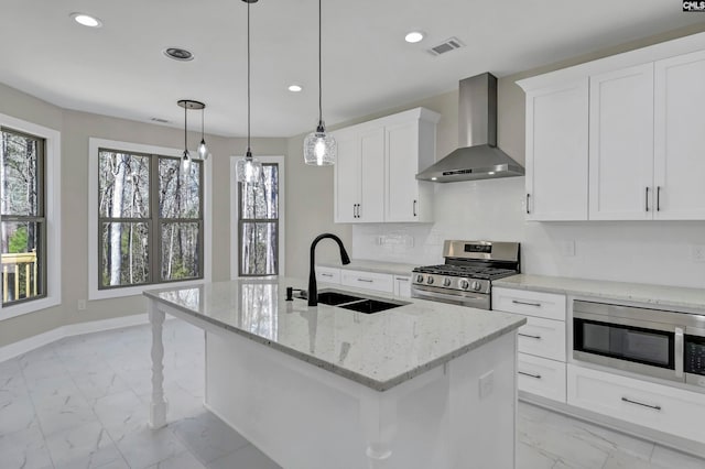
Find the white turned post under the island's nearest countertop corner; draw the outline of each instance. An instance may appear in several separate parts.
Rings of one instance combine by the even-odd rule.
[[[397,396],[393,390],[378,392],[364,389],[360,394],[360,421],[367,441],[370,469],[388,467],[392,441],[397,436]]]

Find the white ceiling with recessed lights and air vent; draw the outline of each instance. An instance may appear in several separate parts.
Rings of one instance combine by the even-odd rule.
[[[252,135],[317,121],[316,0],[251,4]],[[207,105],[206,132],[247,133],[247,4],[240,0],[0,0],[0,83],[67,109],[183,128],[178,99]],[[76,24],[72,12],[102,20]],[[327,124],[703,21],[664,0],[324,0]],[[406,44],[404,34],[426,39]],[[456,36],[466,47],[426,50]],[[180,46],[192,62],[162,51]],[[304,87],[292,94],[286,87]],[[0,103],[0,111],[1,111]],[[189,128],[200,114],[189,111]]]

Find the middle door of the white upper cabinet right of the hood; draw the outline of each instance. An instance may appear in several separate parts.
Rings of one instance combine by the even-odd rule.
[[[590,77],[589,218],[643,220],[653,206],[653,64]]]

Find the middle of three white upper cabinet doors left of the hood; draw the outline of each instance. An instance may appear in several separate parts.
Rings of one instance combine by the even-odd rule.
[[[384,128],[361,132],[359,144],[362,185],[356,221],[384,221]]]

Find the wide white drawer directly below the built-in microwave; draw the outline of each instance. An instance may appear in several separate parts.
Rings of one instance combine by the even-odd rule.
[[[705,443],[705,395],[619,374],[567,366],[568,404]]]

